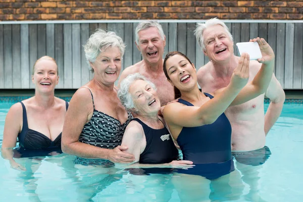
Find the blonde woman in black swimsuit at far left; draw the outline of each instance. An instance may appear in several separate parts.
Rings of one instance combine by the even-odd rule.
[[[38,59],[32,82],[35,95],[13,105],[5,120],[1,154],[17,170],[25,170],[13,159],[17,137],[21,157],[62,153],[61,133],[68,103],[54,95],[59,82],[56,61],[48,56]]]

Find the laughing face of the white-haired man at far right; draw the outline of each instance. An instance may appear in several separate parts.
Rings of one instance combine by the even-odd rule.
[[[206,48],[204,54],[215,63],[229,61],[234,49],[226,30],[221,25],[214,25],[207,28],[203,35]]]

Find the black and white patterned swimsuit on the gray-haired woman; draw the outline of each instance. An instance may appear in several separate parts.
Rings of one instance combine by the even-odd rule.
[[[121,124],[118,119],[115,119],[114,117],[111,117],[103,112],[97,111],[94,106],[91,91],[90,94],[93,105],[93,114],[89,122],[84,125],[83,130],[79,136],[79,142],[109,149],[113,149],[116,146],[121,145],[125,128],[128,123],[133,119],[132,114],[130,112],[127,112],[127,120],[125,123]],[[90,164],[78,162],[81,159],[82,161],[84,161],[83,158],[76,158],[75,163],[83,165],[96,165],[95,163]],[[89,160],[90,162],[90,160],[92,159],[85,160]],[[94,162],[96,161],[98,160],[94,159]]]

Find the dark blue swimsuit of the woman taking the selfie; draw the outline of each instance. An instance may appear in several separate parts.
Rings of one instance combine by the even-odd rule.
[[[211,99],[211,94],[204,93]],[[179,103],[193,106],[184,99]],[[225,114],[208,125],[183,127],[177,142],[182,150],[183,160],[192,161],[195,167],[178,172],[201,175],[208,179],[216,179],[234,170],[231,158],[231,125]]]

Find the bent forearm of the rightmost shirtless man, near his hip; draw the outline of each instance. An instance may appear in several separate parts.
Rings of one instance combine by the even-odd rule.
[[[267,112],[265,114],[265,122],[264,122],[264,131],[265,134],[269,132],[271,127],[276,123],[278,120],[283,108],[283,102],[269,104]]]

